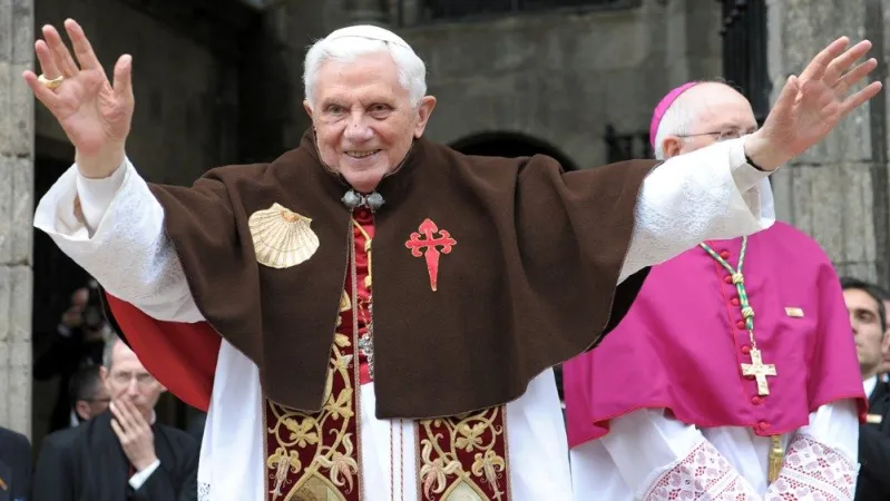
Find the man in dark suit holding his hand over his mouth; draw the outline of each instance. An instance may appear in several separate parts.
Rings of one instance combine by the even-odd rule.
[[[166,391],[119,338],[101,367],[109,411],[43,441],[33,501],[186,501],[197,499],[198,444],[155,423]]]

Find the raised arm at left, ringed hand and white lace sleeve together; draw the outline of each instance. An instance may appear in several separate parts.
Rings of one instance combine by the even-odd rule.
[[[77,151],[76,165],[40,202],[35,226],[110,294],[158,318],[201,321],[164,234],[160,204],[126,159],[135,104],[131,58],[118,59],[113,85],[80,26],[68,19],[65,30],[74,51],[56,28],[45,26],[35,43],[42,78],[23,73]]]

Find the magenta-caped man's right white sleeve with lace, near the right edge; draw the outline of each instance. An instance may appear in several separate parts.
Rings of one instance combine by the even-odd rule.
[[[791,439],[766,499],[853,501],[859,475],[859,416],[854,400],[822,405]]]

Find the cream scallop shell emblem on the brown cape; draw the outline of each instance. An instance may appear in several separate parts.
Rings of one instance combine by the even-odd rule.
[[[290,268],[307,261],[319,249],[319,236],[311,224],[309,217],[277,203],[253,213],[247,225],[256,261],[271,268]]]

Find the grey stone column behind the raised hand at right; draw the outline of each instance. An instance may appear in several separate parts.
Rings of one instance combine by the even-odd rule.
[[[767,2],[773,101],[788,76],[800,75],[806,62],[835,38],[848,36],[853,42],[864,38],[865,10],[871,1]],[[877,47],[882,47],[882,37]],[[874,57],[882,59],[883,55]],[[871,138],[871,122],[883,124],[886,117],[881,116],[882,106],[872,108],[867,105],[852,112],[822,144],[785,166],[772,180],[779,218],[813,236],[841,275],[890,285],[887,166],[881,151],[886,146],[877,144],[886,141],[876,141],[876,153]],[[872,117],[874,112],[878,116]]]

